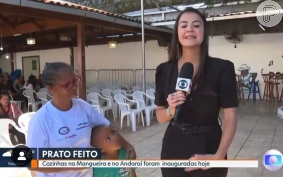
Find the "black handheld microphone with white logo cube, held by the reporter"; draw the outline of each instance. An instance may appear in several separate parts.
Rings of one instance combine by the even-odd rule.
[[[190,62],[186,62],[182,65],[181,71],[180,71],[180,75],[177,79],[177,83],[176,83],[176,91],[183,91],[186,92],[187,94],[190,94],[191,89],[190,89],[190,85],[192,82],[192,78],[193,78],[193,74],[194,74],[194,65]],[[176,111],[175,111],[175,117],[174,120],[177,120],[178,115],[181,111],[181,107],[182,104],[177,106]]]

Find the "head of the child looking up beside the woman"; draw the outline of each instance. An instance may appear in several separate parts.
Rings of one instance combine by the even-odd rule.
[[[121,148],[116,131],[106,125],[98,125],[92,129],[90,144],[101,148],[101,152],[112,152]]]

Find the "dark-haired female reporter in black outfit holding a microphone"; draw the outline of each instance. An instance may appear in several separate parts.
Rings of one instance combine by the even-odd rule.
[[[238,98],[234,64],[208,55],[205,17],[187,8],[176,19],[169,61],[156,69],[157,118],[170,122],[162,159],[225,159],[234,138]],[[191,93],[175,90],[182,65],[194,66]],[[182,104],[177,119],[175,110]],[[218,122],[223,109],[223,124]],[[174,118],[174,119],[173,119]],[[227,168],[162,168],[162,177],[226,177]]]

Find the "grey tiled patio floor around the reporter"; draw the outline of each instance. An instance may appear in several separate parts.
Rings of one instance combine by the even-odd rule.
[[[268,146],[268,143],[283,144],[283,119],[276,116],[278,107],[277,103],[269,104],[265,101],[250,100],[240,104],[237,133],[228,158],[258,158],[259,168],[232,168],[229,169],[228,177],[283,177],[283,168],[270,172],[264,169],[262,163],[263,154],[268,149],[274,148],[283,152],[283,146]],[[119,123],[113,123],[118,130]],[[167,123],[158,123],[155,118],[150,127],[143,128],[140,122],[135,133],[125,125],[126,123],[121,134],[134,145],[138,158],[160,158],[162,137]],[[137,169],[137,176],[162,177],[158,168]]]

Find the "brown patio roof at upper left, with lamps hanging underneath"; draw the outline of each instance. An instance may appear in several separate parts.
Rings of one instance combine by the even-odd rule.
[[[76,46],[76,24],[83,21],[86,45],[106,44],[115,36],[118,42],[141,41],[141,20],[82,6],[64,0],[0,0],[3,44],[9,51],[21,52]],[[170,39],[172,30],[146,21],[145,39]],[[16,35],[16,36],[15,36]],[[60,36],[72,41],[61,41]],[[28,46],[26,38],[36,38]]]

